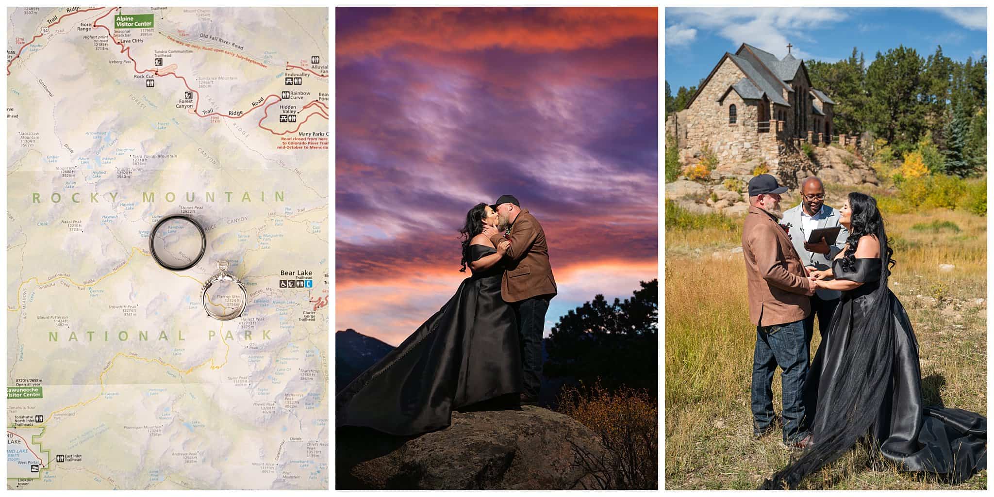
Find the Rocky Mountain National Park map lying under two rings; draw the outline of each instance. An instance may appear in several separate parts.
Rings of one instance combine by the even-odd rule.
[[[328,488],[328,23],[7,10],[8,489]],[[181,271],[149,250],[177,214]]]

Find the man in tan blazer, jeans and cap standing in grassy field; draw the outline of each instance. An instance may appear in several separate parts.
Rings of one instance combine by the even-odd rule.
[[[809,357],[804,318],[811,311],[808,297],[814,294],[815,286],[807,278],[786,228],[778,223],[782,217],[780,194],[786,191],[768,174],[748,182],[743,255],[749,320],[756,334],[752,354],[752,434],[758,438],[775,427],[770,385],[779,365],[783,370],[783,443],[804,448],[811,441],[803,419]]]

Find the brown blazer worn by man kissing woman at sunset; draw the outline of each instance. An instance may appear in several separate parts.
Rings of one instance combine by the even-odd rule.
[[[503,240],[503,233],[490,238],[494,247]],[[511,247],[504,255],[510,258],[500,285],[504,301],[519,302],[538,295],[556,295],[546,232],[528,209],[522,209],[511,224]]]

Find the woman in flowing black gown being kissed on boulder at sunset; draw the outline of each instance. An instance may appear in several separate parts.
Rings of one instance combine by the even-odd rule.
[[[522,386],[518,321],[501,298],[502,257],[481,235],[497,214],[477,204],[462,230],[462,280],[452,298],[401,345],[335,396],[335,425],[394,435],[444,428],[452,411],[483,401],[518,399]],[[511,396],[510,394],[514,394]]]

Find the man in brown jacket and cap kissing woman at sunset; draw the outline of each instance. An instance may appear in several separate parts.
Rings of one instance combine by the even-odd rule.
[[[501,195],[491,209],[497,212],[501,231],[488,233],[494,247],[504,240],[511,247],[504,253],[510,262],[501,281],[501,296],[518,316],[525,393],[521,404],[536,405],[542,382],[542,332],[549,301],[556,296],[556,279],[549,264],[546,232],[539,220],[522,209],[512,195]]]

